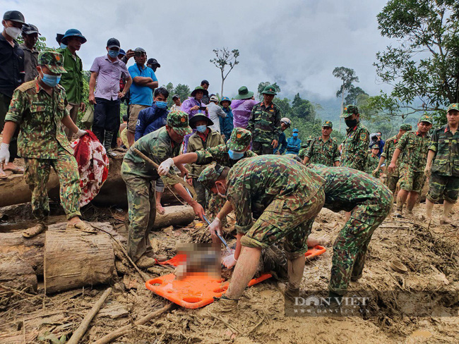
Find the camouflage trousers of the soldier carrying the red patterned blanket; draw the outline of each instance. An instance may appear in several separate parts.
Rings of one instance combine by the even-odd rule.
[[[47,183],[51,168],[59,178],[59,196],[67,219],[80,216],[80,175],[73,155],[59,148],[57,159],[24,158],[24,180],[32,191],[32,214],[45,221],[49,215]]]

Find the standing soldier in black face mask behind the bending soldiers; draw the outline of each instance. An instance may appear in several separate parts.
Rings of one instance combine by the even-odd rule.
[[[341,164],[342,167],[355,168],[364,171],[367,147],[369,146],[369,132],[360,123],[359,109],[355,105],[347,105],[342,113],[347,125],[347,132],[342,142]]]

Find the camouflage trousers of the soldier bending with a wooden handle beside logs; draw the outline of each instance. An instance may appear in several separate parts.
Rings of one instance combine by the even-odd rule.
[[[129,173],[131,167],[123,161],[121,177],[126,183],[128,196],[129,237],[127,251],[133,262],[153,251],[150,231],[156,217],[155,180]]]

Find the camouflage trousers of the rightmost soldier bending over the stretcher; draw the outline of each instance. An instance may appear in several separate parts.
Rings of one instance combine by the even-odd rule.
[[[381,205],[359,204],[352,209],[351,218],[338,234],[333,244],[333,258],[328,289],[338,295],[345,295],[351,279],[362,277],[366,251],[371,235],[386,219],[393,204],[392,194],[386,190]],[[382,195],[384,197],[384,195]]]

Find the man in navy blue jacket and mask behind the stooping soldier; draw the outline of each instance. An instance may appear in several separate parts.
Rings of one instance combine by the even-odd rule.
[[[136,141],[166,125],[167,114],[169,113],[167,110],[167,97],[169,97],[169,92],[164,87],[157,88],[155,90],[155,97],[153,97],[154,102],[152,106],[138,113],[135,135]],[[159,214],[165,213],[165,209],[161,205],[161,197],[164,193],[164,189],[165,185],[161,178],[156,180],[156,211]]]

